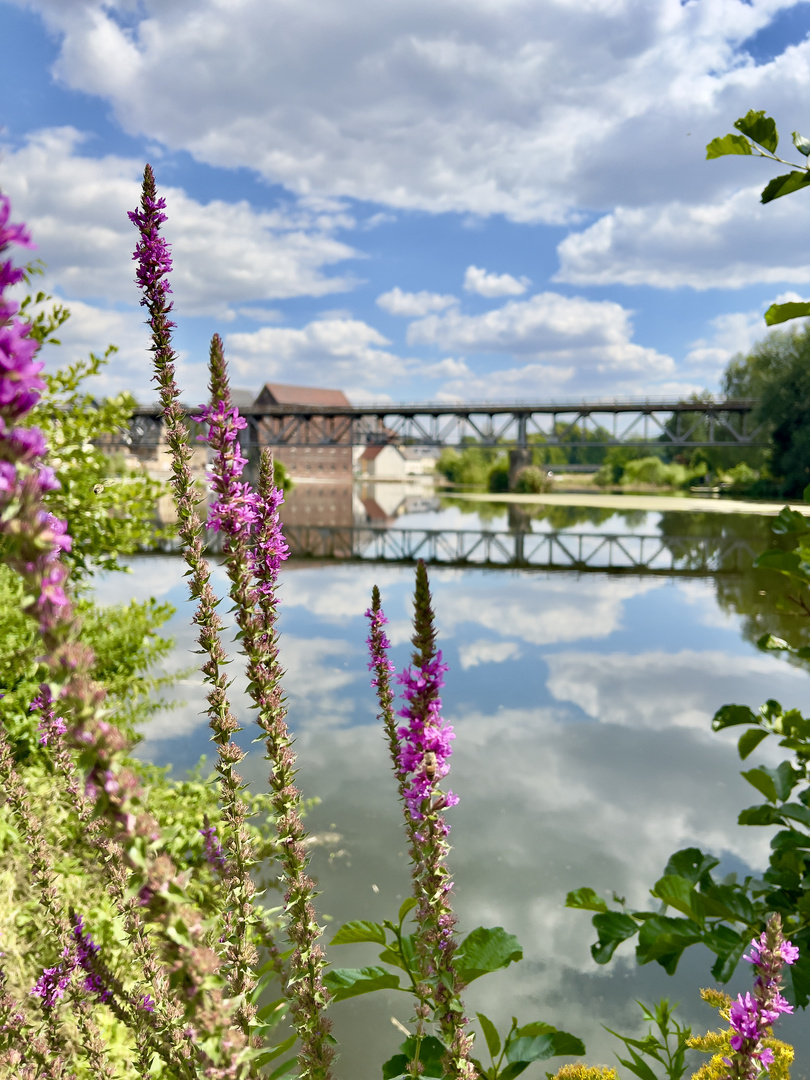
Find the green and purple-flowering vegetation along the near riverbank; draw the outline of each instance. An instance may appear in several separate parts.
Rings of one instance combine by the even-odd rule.
[[[105,430],[124,422],[127,407],[120,401],[109,406],[111,411],[96,410],[80,394],[82,377],[102,361],[94,357],[50,386],[42,379],[36,354],[42,341],[53,339],[62,314],[56,309],[31,318],[36,305],[18,310],[9,299],[8,289],[24,271],[5,253],[30,241],[23,226],[11,224],[9,201],[0,197],[0,253],[5,257],[0,264],[0,589],[8,602],[0,653],[0,1067],[24,1080],[327,1080],[334,1076],[336,1053],[327,1005],[383,989],[413,1000],[408,1036],[381,1065],[383,1080],[513,1080],[536,1062],[581,1057],[584,1047],[576,1036],[542,1021],[514,1020],[509,1030],[498,1032],[485,1015],[476,1014],[476,1036],[465,1015],[465,986],[519,961],[523,953],[502,928],[476,928],[462,939],[456,932],[447,812],[457,799],[444,786],[454,732],[442,717],[440,691],[447,669],[436,648],[421,565],[413,660],[399,675],[388,659],[377,590],[367,612],[369,667],[403,810],[411,896],[391,919],[351,921],[330,942],[381,948],[382,966],[327,970],[314,908],[316,888],[308,874],[306,807],[295,785],[276,631],[276,582],[287,555],[279,522],[283,496],[273,484],[267,453],[257,487],[242,478],[246,462],[239,433],[244,421],[232,405],[221,341],[215,336],[211,402],[194,417],[212,451],[213,494],[207,519],[198,515],[189,424],[174,378],[171,258],[160,232],[164,210],[147,166],[140,206],[130,216],[138,230],[137,281],[172,453],[178,534],[197,604],[194,623],[217,753],[213,782],[198,774],[173,783],[130,755],[135,724],[158,707],[152,694],[160,680],[149,671],[166,648],[158,629],[167,612],[148,604],[106,609],[102,616],[82,599],[81,583],[149,541],[144,511],[156,491],[139,474],[111,475],[109,463],[93,448]],[[60,408],[66,399],[69,407]],[[77,465],[80,454],[86,460]],[[120,484],[112,483],[119,478]],[[81,485],[91,481],[82,498]],[[124,499],[127,484],[130,497]],[[124,513],[125,505],[135,508],[132,514]],[[211,585],[205,527],[222,536],[229,596],[259,728],[256,741],[268,762],[266,795],[247,792],[237,772],[244,752],[233,741],[240,727],[229,704],[220,598]],[[810,530],[801,515],[784,514],[781,527],[789,537],[787,550],[780,549],[779,558],[762,557],[791,576],[801,605]],[[781,639],[767,645],[792,648]],[[800,652],[798,661],[806,659]],[[396,684],[403,698],[399,710]],[[721,1018],[716,1031],[693,1037],[660,1002],[644,1009],[647,1037],[618,1036],[621,1053],[627,1055],[620,1063],[644,1080],[662,1075],[679,1080],[690,1051],[708,1055],[694,1074],[700,1080],[754,1080],[765,1072],[787,1077],[793,1052],[773,1038],[772,1025],[795,1005],[807,1004],[810,909],[804,860],[810,858],[810,798],[804,799],[807,787],[798,801],[791,796],[806,779],[810,721],[783,714],[773,702],[760,714],[727,708],[716,723],[745,725],[741,753],[775,734],[794,755],[779,770],[753,770],[752,783],[767,800],[755,808],[758,823],[781,826],[767,888],[748,880],[742,886],[716,882],[711,873],[716,861],[689,851],[673,856],[664,885],[653,890],[664,905],[685,913],[683,919],[611,910],[588,889],[569,897],[572,906],[596,912],[600,960],[638,933],[639,948],[644,939],[647,949],[639,959],[672,967],[684,948],[701,940],[715,947],[715,976],[724,981],[750,948],[750,993],[732,1001],[719,990],[703,991]],[[685,922],[688,932],[683,932]],[[785,931],[797,944],[785,939]],[[482,1061],[481,1042],[489,1064]],[[567,1064],[555,1076],[607,1080],[617,1074]]]

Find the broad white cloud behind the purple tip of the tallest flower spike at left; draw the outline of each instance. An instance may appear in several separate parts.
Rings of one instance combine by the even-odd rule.
[[[24,218],[66,297],[135,305],[132,252],[136,232],[126,217],[140,195],[143,163],[82,154],[84,135],[57,127],[31,135],[0,159],[3,189]],[[241,201],[203,204],[158,181],[168,204],[175,305],[184,314],[234,316],[232,306],[345,292],[353,282],[323,270],[357,253],[335,239],[351,225],[339,207],[305,202],[257,211]]]

